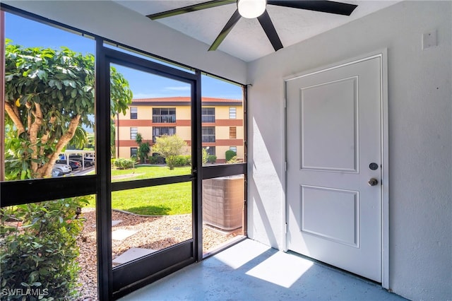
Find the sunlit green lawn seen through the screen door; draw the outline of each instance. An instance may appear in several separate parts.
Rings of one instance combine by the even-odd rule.
[[[191,167],[137,166],[130,170],[112,170],[112,182],[189,175]],[[95,206],[95,200],[90,201]],[[191,213],[191,182],[112,192],[112,208],[148,216]]]

